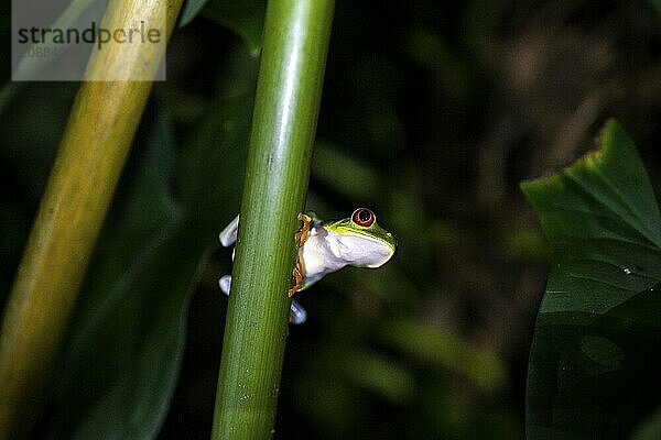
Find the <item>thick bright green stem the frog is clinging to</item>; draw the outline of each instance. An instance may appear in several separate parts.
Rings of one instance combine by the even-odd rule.
[[[213,439],[271,436],[333,0],[267,8]]]

